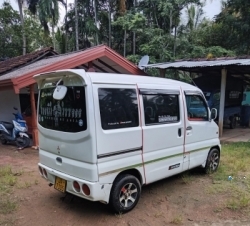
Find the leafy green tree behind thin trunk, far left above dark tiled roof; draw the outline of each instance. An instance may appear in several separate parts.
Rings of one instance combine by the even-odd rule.
[[[45,36],[36,17],[25,12],[25,34],[27,53],[52,45],[51,38]],[[9,3],[0,8],[0,58],[22,55],[22,26],[20,16]]]

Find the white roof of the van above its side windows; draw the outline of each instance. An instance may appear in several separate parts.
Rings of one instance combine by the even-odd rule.
[[[72,72],[77,72],[73,71]],[[158,84],[158,85],[175,85],[181,86],[182,88],[189,90],[199,90],[198,87],[190,85],[185,82],[180,82],[173,79],[151,77],[151,76],[138,76],[138,75],[126,75],[126,74],[112,74],[112,73],[97,73],[97,72],[86,72],[87,76],[90,77],[92,83],[113,83],[113,84]]]

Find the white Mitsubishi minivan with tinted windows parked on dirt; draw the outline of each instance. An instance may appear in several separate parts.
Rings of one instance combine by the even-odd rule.
[[[218,168],[217,112],[194,86],[80,69],[34,78],[39,171],[61,192],[127,212],[143,185],[198,166]]]

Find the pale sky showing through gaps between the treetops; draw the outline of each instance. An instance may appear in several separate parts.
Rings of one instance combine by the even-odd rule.
[[[6,0],[9,1],[12,7],[18,10],[17,0]],[[2,6],[4,0],[0,0],[0,7]],[[69,3],[73,3],[74,0],[68,0]],[[204,7],[205,16],[209,19],[213,19],[214,15],[220,13],[221,11],[221,0],[206,0],[206,6]],[[61,16],[60,21],[63,20],[65,16],[65,10],[63,6],[60,6]]]

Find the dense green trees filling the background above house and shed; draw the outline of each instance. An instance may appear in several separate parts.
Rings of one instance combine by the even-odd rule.
[[[64,6],[64,1],[29,0],[28,3],[29,10],[38,16],[33,17],[27,12],[25,15],[30,52],[52,45],[51,37],[43,35],[41,30],[48,24],[57,25],[58,7],[60,4]],[[245,0],[228,0],[214,21],[204,18],[203,0],[109,0],[96,1],[96,7],[94,1],[78,0],[77,17],[74,7],[70,4],[66,23],[55,33],[55,46],[60,53],[75,50],[76,39],[79,49],[110,44],[133,62],[146,54],[150,56],[150,63],[157,63],[249,53],[250,3]],[[0,31],[0,57],[21,55],[19,14],[8,3],[0,9]]]

